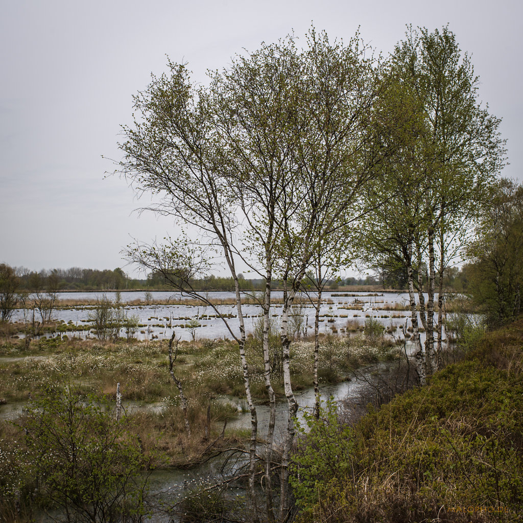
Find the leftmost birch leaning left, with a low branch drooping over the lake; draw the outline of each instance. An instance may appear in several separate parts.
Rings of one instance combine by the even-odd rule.
[[[256,521],[257,414],[245,355],[245,324],[236,270],[236,206],[215,155],[215,115],[209,93],[191,84],[184,64],[169,62],[168,66],[168,73],[152,76],[149,87],[134,97],[136,116],[132,126],[122,128],[126,141],[119,146],[125,156],[117,171],[139,195],[150,192],[155,197],[155,203],[148,210],[193,226],[197,238],[192,241],[186,237],[166,238],[163,244],[136,243],[128,248],[127,256],[142,267],[162,274],[173,288],[213,308],[238,343],[251,412],[249,503]],[[212,248],[219,250],[234,280],[239,332],[206,294],[190,286],[192,277],[201,276],[208,269]]]

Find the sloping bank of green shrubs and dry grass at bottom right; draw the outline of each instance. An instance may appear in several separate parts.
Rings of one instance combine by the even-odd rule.
[[[298,520],[520,521],[523,319],[351,427],[334,405],[294,462]]]

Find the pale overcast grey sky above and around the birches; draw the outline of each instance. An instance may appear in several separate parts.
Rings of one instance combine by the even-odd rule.
[[[384,54],[405,24],[447,22],[472,54],[480,97],[503,118],[510,166],[523,178],[520,0],[0,0],[0,262],[30,269],[115,268],[130,237],[175,236],[172,223],[132,213],[119,159],[119,126],[132,95],[187,61],[196,81],[242,49],[303,36],[361,37]],[[129,270],[129,269],[127,269]]]

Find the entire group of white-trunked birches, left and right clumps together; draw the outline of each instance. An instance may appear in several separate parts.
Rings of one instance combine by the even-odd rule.
[[[216,263],[229,271],[239,328],[221,317],[240,347],[252,415],[253,506],[257,418],[244,350],[240,264],[265,283],[258,303],[270,405],[266,516],[269,522],[285,521],[298,409],[289,366],[289,314],[304,278],[313,270],[315,280],[323,281],[329,270],[332,274],[356,256],[375,266],[405,269],[423,383],[439,364],[442,281],[453,246],[504,162],[499,119],[480,103],[469,56],[448,27],[433,32],[408,28],[388,60],[374,58],[358,34],[348,43],[333,42],[313,28],[302,48],[294,36],[264,43],[233,58],[226,69],[210,72],[207,85],[192,82],[187,64],[167,65],[165,74],[153,75],[134,97],[134,122],[123,126],[119,146],[124,157],[117,172],[138,194],[150,192],[154,203],[149,209],[172,216],[182,233],[163,243],[137,242],[127,257],[210,306],[195,279],[203,279]],[[274,279],[284,290],[280,340],[288,401],[279,510],[270,483],[276,412],[269,345]],[[320,296],[321,287],[318,291]],[[424,353],[416,291],[427,332]]]

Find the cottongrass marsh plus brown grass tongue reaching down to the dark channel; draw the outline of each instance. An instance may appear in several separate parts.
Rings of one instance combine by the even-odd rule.
[[[50,338],[32,340],[28,352],[22,351],[23,347],[22,340],[3,346],[2,403],[24,402],[31,395],[46,394],[67,379],[84,394],[94,393],[115,404],[116,385],[120,383],[126,415],[136,420],[134,426],[144,448],[160,448],[170,464],[187,464],[196,459],[198,451],[208,445],[209,438],[219,433],[223,422],[237,414],[237,407],[223,401],[223,395],[240,399],[245,395],[235,343],[228,340],[180,342],[174,372],[188,398],[193,436],[189,439],[184,431],[178,391],[168,372],[165,341],[128,343]],[[311,386],[313,347],[312,339],[302,339],[291,346],[295,390]],[[246,350],[253,396],[258,403],[266,403],[263,356],[254,338],[249,338]],[[342,381],[358,366],[394,357],[394,350],[381,338],[322,335],[321,381]],[[285,397],[282,378],[277,374],[273,384],[277,396]],[[228,437],[235,435],[228,433]]]

